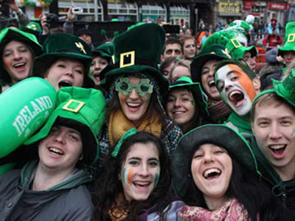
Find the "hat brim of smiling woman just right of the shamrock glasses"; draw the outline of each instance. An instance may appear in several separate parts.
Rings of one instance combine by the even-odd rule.
[[[176,81],[174,82],[174,84],[171,84],[169,86],[169,91],[179,87],[188,88],[192,92],[196,103],[200,105],[201,113],[203,116],[208,117],[210,115],[208,111],[207,101],[205,100],[205,97],[203,95],[200,83],[197,83],[197,82],[196,83],[180,83],[180,81],[179,83],[177,83]],[[167,101],[167,98],[165,100]]]

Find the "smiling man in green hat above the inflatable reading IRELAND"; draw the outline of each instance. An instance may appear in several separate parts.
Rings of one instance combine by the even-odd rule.
[[[14,28],[5,28],[0,36],[0,93],[10,85],[32,76],[35,56],[42,53],[42,46],[33,34]]]

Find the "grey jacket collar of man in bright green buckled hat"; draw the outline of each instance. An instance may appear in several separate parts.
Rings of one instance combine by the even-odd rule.
[[[21,186],[26,190],[30,189],[37,165],[38,161],[30,161],[21,170]],[[49,188],[46,192],[71,189],[81,184],[88,183],[91,180],[90,174],[86,170],[80,169],[75,173],[70,173],[61,183]]]

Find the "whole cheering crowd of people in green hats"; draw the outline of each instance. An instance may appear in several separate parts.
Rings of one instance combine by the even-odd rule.
[[[294,221],[295,22],[257,72],[248,19],[198,49],[74,17],[0,31],[0,220]]]

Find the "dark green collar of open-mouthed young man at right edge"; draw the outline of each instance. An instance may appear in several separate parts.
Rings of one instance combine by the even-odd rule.
[[[283,182],[277,172],[268,163],[263,153],[260,151],[254,136],[251,138],[251,147],[255,158],[258,161],[259,170],[262,173],[263,179],[271,184],[271,192],[275,196],[281,196],[290,189],[295,188],[295,179]]]

